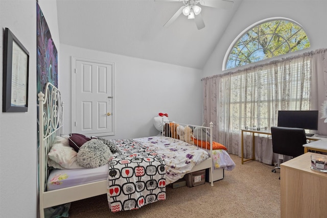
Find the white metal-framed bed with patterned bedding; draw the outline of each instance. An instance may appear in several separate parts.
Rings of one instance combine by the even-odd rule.
[[[40,92],[38,94],[39,101],[39,209],[40,209],[40,217],[44,217],[44,209],[81,200],[86,199],[98,195],[107,194],[108,202],[109,196],[112,199],[109,202],[109,207],[111,211],[117,205],[116,197],[114,196],[114,190],[118,190],[117,187],[123,189],[125,184],[117,183],[117,178],[123,176],[123,171],[125,173],[129,172],[127,165],[124,164],[126,161],[131,160],[134,156],[137,155],[146,155],[149,160],[149,172],[158,172],[156,175],[150,175],[149,181],[145,183],[147,185],[147,189],[153,184],[152,181],[157,181],[157,197],[158,200],[165,200],[165,187],[177,181],[179,178],[182,178],[186,173],[192,173],[199,171],[201,169],[206,169],[209,177],[208,181],[211,185],[214,185],[213,182],[216,180],[220,180],[224,178],[224,170],[231,170],[235,163],[232,162],[228,153],[225,150],[213,150],[213,141],[212,141],[212,124],[210,127],[201,127],[201,126],[193,126],[193,125],[183,125],[177,124],[180,127],[191,127],[191,128],[203,128],[203,132],[211,135],[209,140],[201,141],[201,146],[203,143],[206,145],[202,146],[194,146],[194,138],[192,139],[192,143],[188,143],[185,140],[181,140],[179,135],[170,134],[170,135],[162,135],[162,136],[152,136],[152,137],[143,137],[136,139],[120,139],[120,140],[110,140],[110,143],[116,143],[115,148],[119,148],[119,152],[113,155],[108,164],[105,164],[100,167],[95,168],[76,168],[76,169],[52,169],[48,165],[48,155],[51,152],[53,144],[58,137],[63,135],[63,102],[61,101],[60,91],[53,86],[51,83],[46,84],[44,93]],[[164,129],[162,133],[168,133],[167,129]],[[168,124],[169,125],[169,124]],[[184,135],[181,134],[181,137]],[[202,133],[201,133],[202,136]],[[189,137],[189,135],[188,135]],[[192,135],[193,137],[193,135]],[[108,142],[108,141],[106,141]],[[199,142],[199,141],[198,141]],[[198,143],[196,142],[196,143]],[[132,146],[131,146],[132,143]],[[169,148],[169,145],[173,145],[174,148]],[[139,147],[138,147],[139,146]],[[158,147],[164,147],[163,150],[159,150]],[[168,156],[171,156],[172,159],[178,159],[178,152],[182,152],[183,147],[186,146],[190,149],[193,149],[190,153],[192,154],[192,158],[188,161],[181,160],[180,162],[187,162],[186,169],[181,169],[179,176],[175,171],[178,170],[179,167],[169,167],[172,166],[171,160]],[[132,151],[130,148],[134,148]],[[140,150],[144,151],[140,151]],[[158,150],[157,150],[158,149]],[[165,151],[166,149],[166,151]],[[174,155],[168,153],[169,151],[174,151]],[[128,150],[129,153],[122,153],[123,151]],[[137,150],[137,151],[136,151]],[[215,156],[214,153],[218,151],[218,155]],[[138,153],[143,152],[143,153]],[[145,152],[145,153],[144,153]],[[193,153],[194,152],[194,153]],[[221,153],[219,153],[221,152]],[[197,154],[199,156],[196,156]],[[133,156],[134,155],[134,156]],[[188,154],[189,155],[189,154]],[[186,156],[188,156],[186,155]],[[161,158],[162,157],[162,158]],[[150,161],[151,160],[151,161]],[[157,165],[155,165],[155,161]],[[122,169],[118,169],[116,165],[113,163],[120,162],[122,163]],[[129,161],[131,162],[131,161]],[[137,162],[137,161],[136,161]],[[141,167],[138,164],[138,167]],[[151,171],[151,168],[156,166],[157,170]],[[165,166],[164,168],[162,166]],[[174,165],[174,164],[173,164]],[[126,168],[127,167],[127,168]],[[159,172],[164,170],[164,172]],[[113,174],[112,172],[119,172],[119,174]],[[73,178],[74,183],[69,184],[63,181],[66,181],[66,175],[69,174],[69,178]],[[64,176],[63,176],[64,175]],[[90,176],[92,175],[92,176]],[[154,180],[153,177],[157,177],[157,180]],[[139,177],[138,177],[139,178]],[[128,178],[129,181],[130,178]],[[60,182],[58,182],[60,181]],[[67,180],[68,181],[68,180]],[[60,183],[60,184],[59,184]],[[125,186],[125,191],[129,190],[130,186]],[[150,190],[151,194],[155,190]],[[131,195],[126,195],[131,196]],[[149,195],[150,196],[150,195]],[[150,196],[151,197],[151,196]],[[151,199],[151,198],[150,198]],[[153,197],[152,197],[153,199]],[[136,199],[138,202],[144,202],[146,199]],[[135,200],[135,201],[136,201]],[[134,200],[133,200],[134,201]],[[144,204],[144,203],[143,203]],[[132,205],[132,204],[131,204]],[[141,205],[143,206],[143,205]],[[120,206],[122,207],[122,206]],[[131,208],[132,209],[132,208]],[[120,211],[120,210],[117,210]],[[115,211],[113,211],[115,212]]]

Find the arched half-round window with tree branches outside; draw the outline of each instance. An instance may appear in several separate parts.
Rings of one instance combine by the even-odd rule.
[[[244,30],[234,42],[225,56],[225,69],[310,47],[309,38],[302,27],[286,18],[271,18],[255,23]]]

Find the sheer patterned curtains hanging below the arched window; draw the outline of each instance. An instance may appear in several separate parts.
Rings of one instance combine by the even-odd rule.
[[[325,50],[319,50],[203,78],[203,118],[207,124],[214,123],[214,141],[224,144],[229,153],[241,156],[241,129],[270,129],[277,126],[278,110],[310,110],[312,101],[313,109],[317,109],[319,87],[312,82],[319,80],[321,84],[321,78],[327,75],[327,64],[322,64],[326,62],[322,55],[313,57],[324,53]],[[324,74],[320,70],[313,72],[317,68],[324,68]],[[245,134],[246,158],[252,156],[251,145],[252,137]],[[272,163],[269,136],[255,137],[255,158]]]

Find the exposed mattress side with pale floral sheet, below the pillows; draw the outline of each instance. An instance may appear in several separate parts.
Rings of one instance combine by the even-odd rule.
[[[49,175],[46,187],[50,191],[106,180],[108,170],[109,164],[97,168],[54,169]]]

